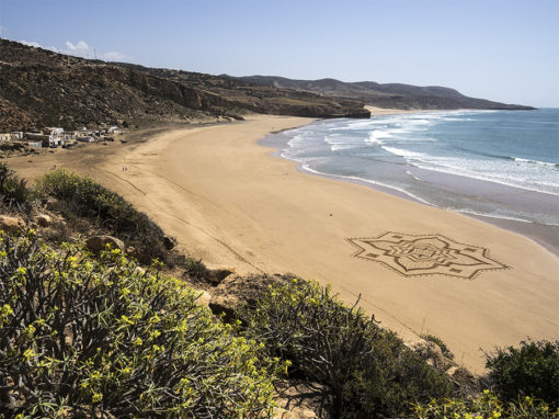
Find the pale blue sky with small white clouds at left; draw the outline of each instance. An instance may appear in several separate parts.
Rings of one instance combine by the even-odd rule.
[[[559,107],[559,0],[0,0],[0,37],[149,67]]]

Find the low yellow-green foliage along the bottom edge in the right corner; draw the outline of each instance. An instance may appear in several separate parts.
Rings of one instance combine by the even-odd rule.
[[[419,419],[550,419],[559,418],[559,411],[550,411],[549,406],[531,397],[515,401],[501,401],[494,394],[484,390],[482,395],[466,400],[431,400],[417,405],[414,415]]]

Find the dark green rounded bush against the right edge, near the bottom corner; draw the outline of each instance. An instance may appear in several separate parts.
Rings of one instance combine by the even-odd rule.
[[[559,341],[521,342],[487,355],[492,388],[504,400],[531,396],[559,408]]]

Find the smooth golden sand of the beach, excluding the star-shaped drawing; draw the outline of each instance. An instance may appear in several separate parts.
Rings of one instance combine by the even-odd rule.
[[[180,127],[147,143],[10,159],[34,178],[54,163],[92,175],[146,212],[180,247],[237,272],[293,272],[331,283],[406,340],[433,333],[465,366],[480,372],[483,353],[520,340],[557,339],[559,259],[531,239],[495,226],[369,188],[309,175],[271,156],[258,140],[310,120],[265,116]],[[95,148],[96,147],[96,148]],[[123,171],[123,166],[128,170]],[[472,280],[404,276],[352,257],[346,239],[386,231],[440,234],[489,249],[510,267]]]

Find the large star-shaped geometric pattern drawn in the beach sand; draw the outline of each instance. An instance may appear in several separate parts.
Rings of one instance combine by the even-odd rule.
[[[393,269],[406,276],[449,275],[472,280],[481,271],[509,267],[489,258],[482,247],[463,245],[441,235],[388,231],[376,238],[347,239],[358,250],[355,258]]]

